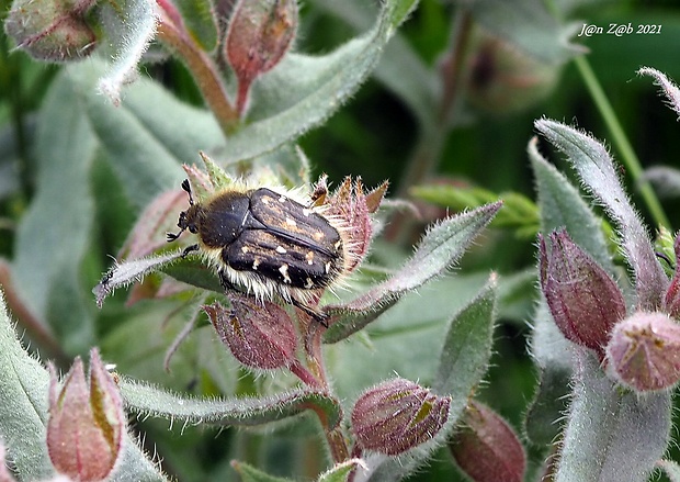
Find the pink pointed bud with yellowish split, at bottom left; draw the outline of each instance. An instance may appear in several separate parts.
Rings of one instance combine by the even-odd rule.
[[[47,450],[55,469],[72,480],[101,481],[112,472],[123,444],[125,413],[118,389],[90,352],[90,384],[77,358],[59,390],[50,367]]]

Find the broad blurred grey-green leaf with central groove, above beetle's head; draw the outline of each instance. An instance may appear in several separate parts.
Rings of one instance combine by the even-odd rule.
[[[178,101],[150,80],[129,86],[117,108],[104,102],[94,89],[103,68],[97,61],[69,66],[68,79],[77,93],[69,112],[90,121],[125,193],[141,208],[180,186],[186,176],[182,162],[199,164],[199,150],[209,152],[224,138],[207,111]]]

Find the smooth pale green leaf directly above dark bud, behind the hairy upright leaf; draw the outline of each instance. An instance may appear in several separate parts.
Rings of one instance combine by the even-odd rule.
[[[526,150],[536,179],[541,232],[547,235],[566,227],[571,239],[613,276],[614,265],[607,249],[602,221],[596,216],[569,180],[539,153],[536,144],[537,139],[534,137]]]

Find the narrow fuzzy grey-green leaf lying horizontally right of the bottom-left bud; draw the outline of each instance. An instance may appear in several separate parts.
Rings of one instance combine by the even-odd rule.
[[[195,399],[183,397],[133,380],[121,380],[121,392],[126,406],[135,412],[216,425],[252,426],[292,417],[314,410],[326,419],[328,427],[340,423],[340,403],[327,393],[292,390],[264,397]]]

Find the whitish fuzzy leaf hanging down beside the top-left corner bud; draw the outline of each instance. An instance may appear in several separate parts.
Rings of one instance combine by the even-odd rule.
[[[121,88],[136,76],[137,64],[156,33],[155,4],[145,0],[117,0],[98,4],[105,42],[101,53],[111,65],[99,81],[99,91],[117,105]]]

